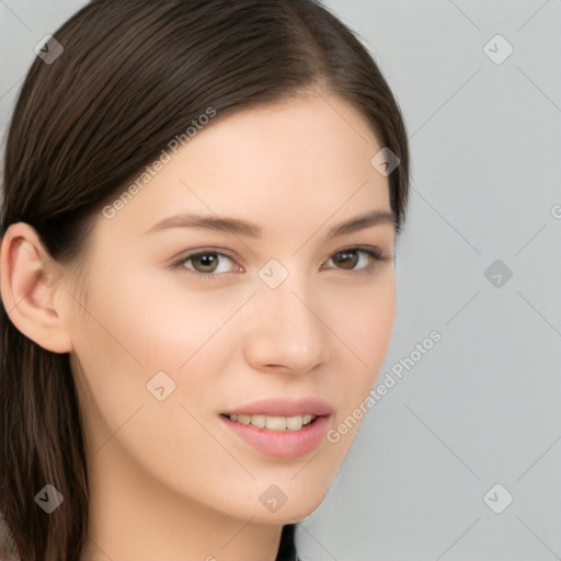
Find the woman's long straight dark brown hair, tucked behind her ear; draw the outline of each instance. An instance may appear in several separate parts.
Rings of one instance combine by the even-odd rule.
[[[313,91],[353,103],[399,157],[388,178],[399,232],[402,115],[358,38],[319,1],[93,0],[54,37],[64,51],[50,43],[58,58],[34,60],[11,119],[2,233],[27,222],[54,260],[78,263],[96,213],[208,107],[224,116]],[[0,513],[21,559],[77,561],[89,491],[69,355],[24,336],[3,306],[0,333]],[[34,500],[46,484],[64,496],[51,514]]]

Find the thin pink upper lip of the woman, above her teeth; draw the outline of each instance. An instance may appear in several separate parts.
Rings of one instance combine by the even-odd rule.
[[[331,415],[333,405],[319,397],[298,398],[298,399],[263,399],[252,401],[236,409],[228,410],[224,414],[228,415],[270,415],[270,416],[295,416],[311,414],[316,416]]]

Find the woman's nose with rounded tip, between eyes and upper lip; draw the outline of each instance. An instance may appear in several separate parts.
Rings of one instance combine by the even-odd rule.
[[[309,295],[293,273],[274,289],[260,285],[243,344],[253,368],[305,374],[330,359],[330,330],[317,310],[320,298]]]

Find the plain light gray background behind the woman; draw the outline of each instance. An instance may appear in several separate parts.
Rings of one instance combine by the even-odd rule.
[[[325,3],[373,53],[412,146],[378,383],[433,330],[442,341],[369,410],[299,554],[561,559],[561,2]],[[84,4],[0,0],[2,130],[34,45]],[[483,50],[496,34],[514,47],[500,65]],[[513,273],[501,287],[495,260]],[[502,514],[483,501],[496,483],[514,496]]]

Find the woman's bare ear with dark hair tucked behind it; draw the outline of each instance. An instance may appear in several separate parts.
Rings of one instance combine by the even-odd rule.
[[[19,331],[53,353],[72,351],[61,313],[64,274],[30,225],[8,228],[0,251],[3,306]]]

